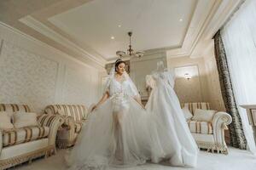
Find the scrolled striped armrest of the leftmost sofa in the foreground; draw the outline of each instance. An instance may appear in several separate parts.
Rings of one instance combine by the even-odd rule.
[[[55,145],[58,128],[64,122],[63,116],[44,114],[38,116],[38,122],[41,126],[49,127],[49,145]]]

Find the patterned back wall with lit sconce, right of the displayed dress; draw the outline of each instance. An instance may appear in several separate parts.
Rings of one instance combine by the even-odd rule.
[[[167,60],[169,68],[175,68],[175,71],[179,69],[178,75],[183,77],[185,73],[189,73],[192,79],[189,81],[185,78],[176,80],[175,91],[180,99],[180,102],[210,102],[208,84],[207,84],[207,71],[205,68],[205,61],[203,58],[189,58],[189,57],[177,57]],[[177,71],[176,71],[177,73]],[[211,102],[210,102],[211,103]],[[212,104],[211,104],[212,105]]]

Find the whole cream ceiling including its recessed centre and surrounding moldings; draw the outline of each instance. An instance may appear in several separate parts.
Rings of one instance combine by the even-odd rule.
[[[242,0],[3,0],[0,21],[84,63],[103,67],[117,50],[201,57]],[[112,39],[111,37],[114,37]]]

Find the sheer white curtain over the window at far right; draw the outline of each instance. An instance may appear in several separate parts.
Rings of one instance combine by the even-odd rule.
[[[256,104],[256,0],[247,0],[221,32],[237,105]],[[247,113],[238,106],[248,149],[256,153]]]

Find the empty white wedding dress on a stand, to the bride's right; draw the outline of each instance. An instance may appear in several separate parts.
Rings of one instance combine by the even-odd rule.
[[[151,153],[152,161],[168,158],[173,166],[195,167],[198,148],[183,116],[177,94],[175,94],[172,71],[166,71],[162,61],[157,71],[147,80],[153,88],[146,105],[151,134],[158,141],[164,157]]]

